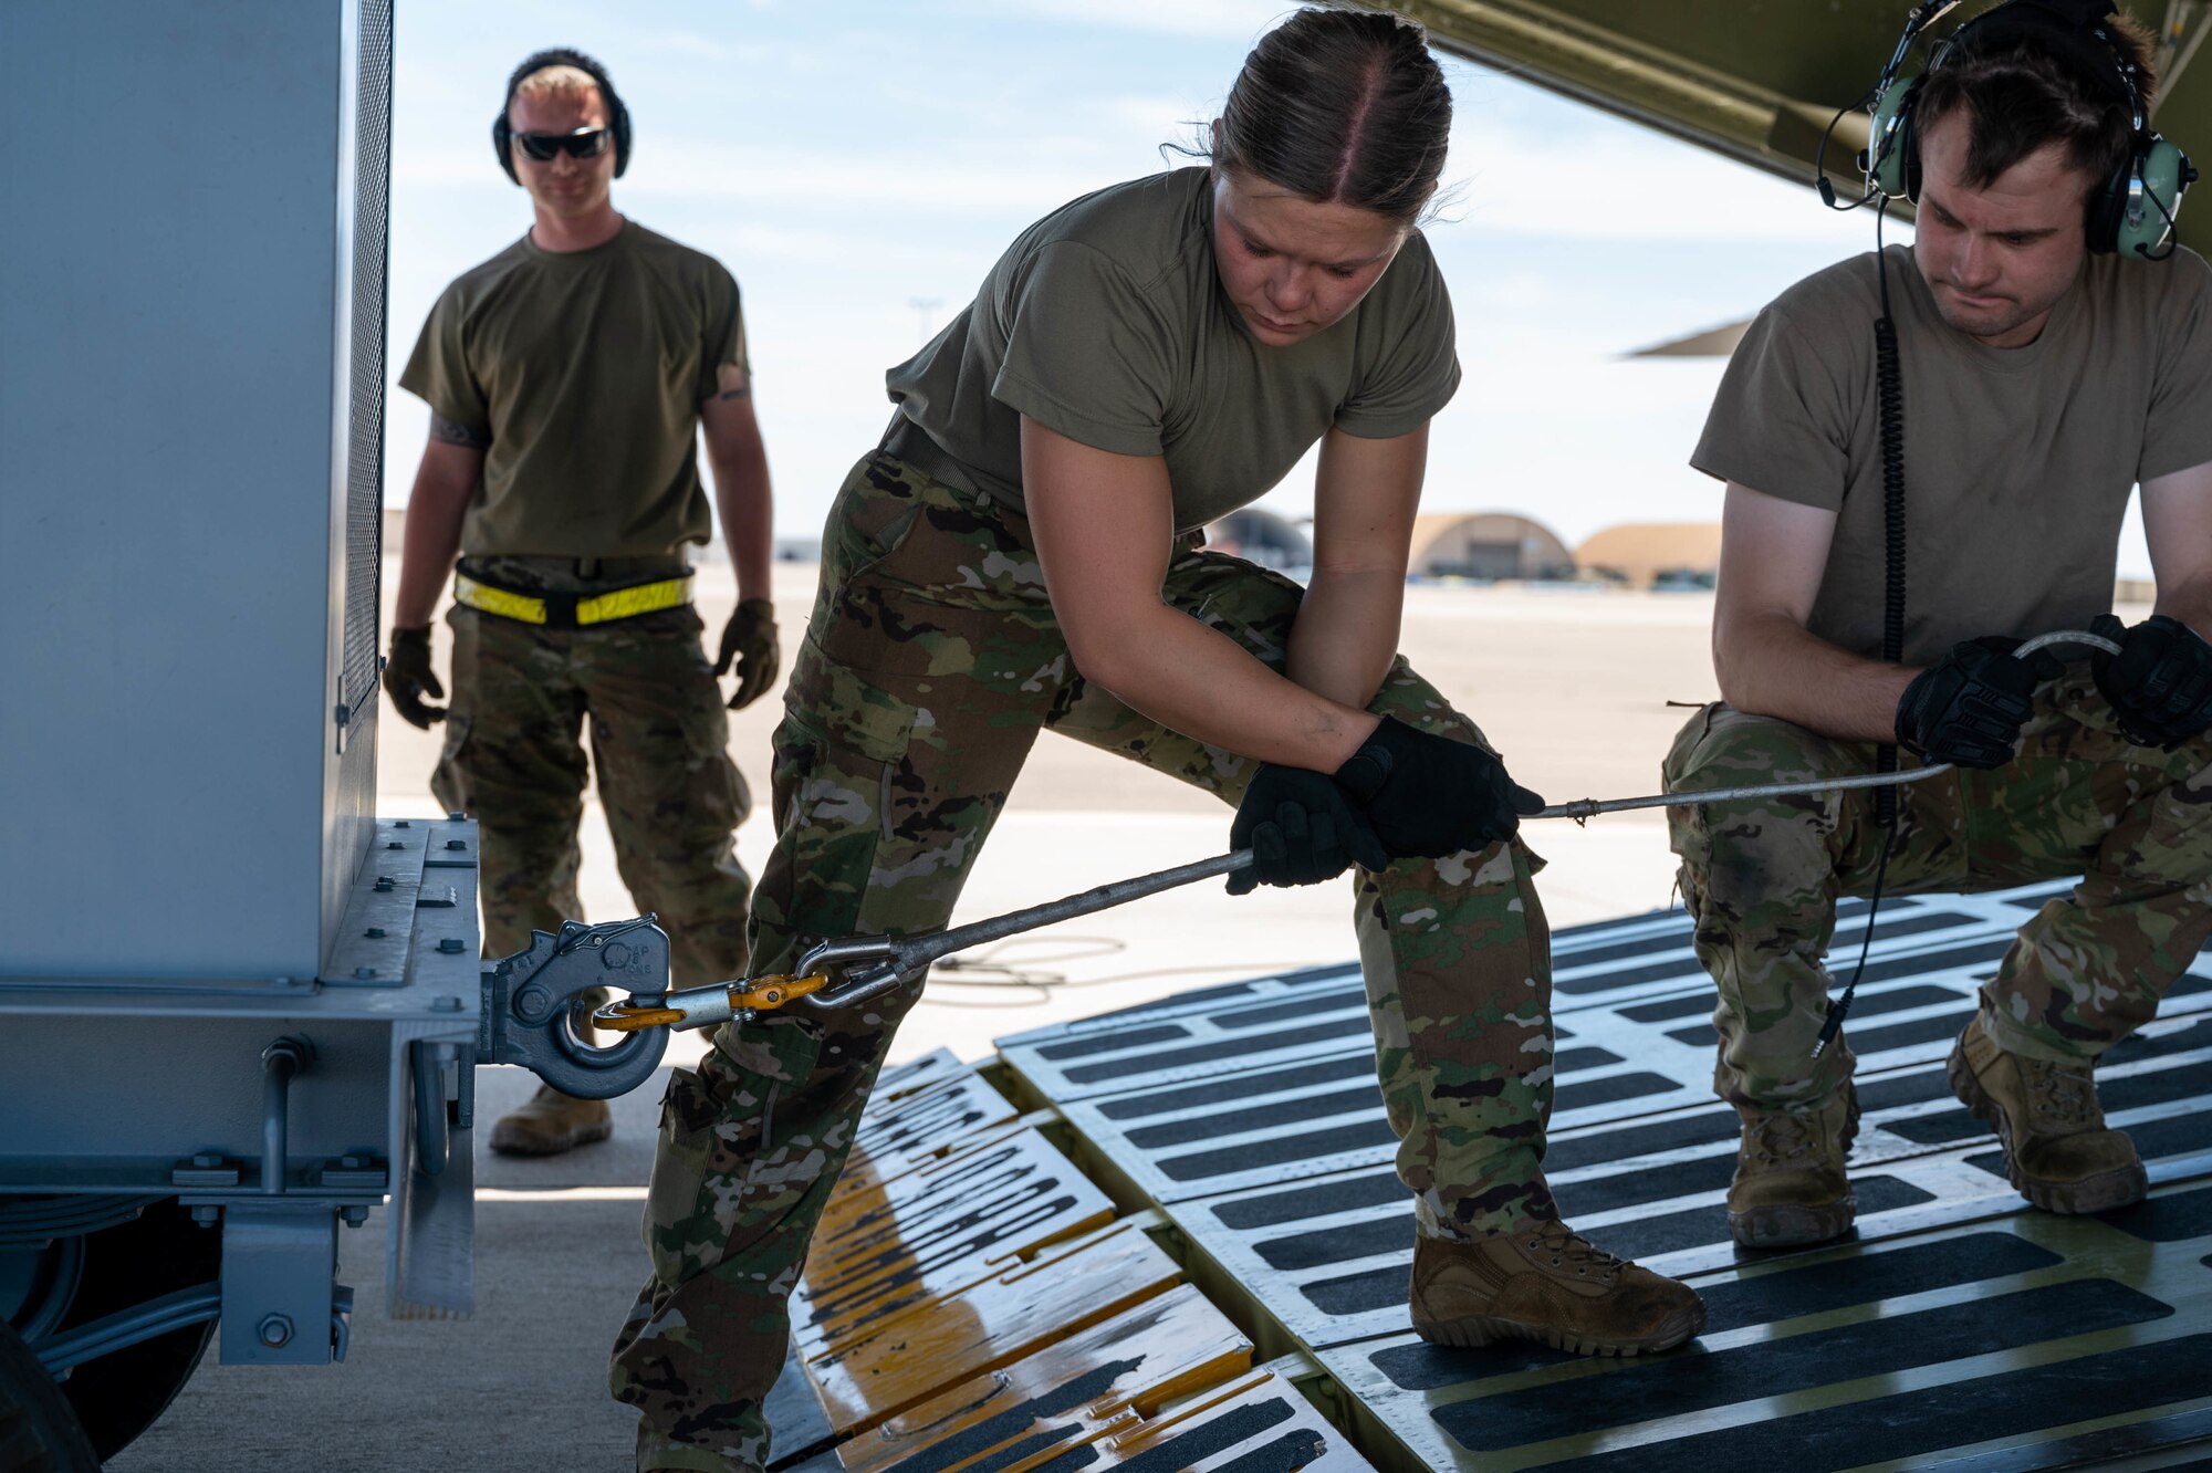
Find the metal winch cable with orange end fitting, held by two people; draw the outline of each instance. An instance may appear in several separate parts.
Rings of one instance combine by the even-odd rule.
[[[2053,644],[2084,644],[2108,655],[2119,652],[2119,646],[2110,639],[2081,630],[2037,635],[2035,639],[2024,641],[2017,652],[2033,655],[2035,650]],[[1575,818],[1579,823],[1595,814],[1619,814],[1635,807],[1686,807],[1692,803],[1783,798],[1801,792],[1898,787],[1902,783],[1920,783],[1942,772],[1951,772],[1951,763],[1931,763],[1927,767],[1913,767],[1911,772],[1869,772],[1863,776],[1814,779],[1805,783],[1759,783],[1750,787],[1659,792],[1641,798],[1577,798],[1573,803],[1553,803],[1535,814],[1528,814],[1528,818]],[[1144,896],[1157,896],[1164,889],[1243,869],[1250,863],[1252,852],[1237,849],[1234,854],[1217,854],[1214,858],[1199,860],[1194,865],[1179,865],[1175,869],[1144,874],[1133,880],[1099,885],[1097,889],[1086,889],[1079,896],[1033,905],[1024,911],[1009,911],[1006,916],[993,916],[964,927],[951,927],[949,931],[931,931],[927,936],[911,936],[905,940],[894,940],[889,936],[827,940],[801,955],[794,973],[714,982],[712,986],[692,986],[666,995],[633,995],[626,1002],[608,1002],[597,1009],[591,1015],[591,1022],[615,1033],[639,1033],[661,1026],[710,1028],[714,1024],[730,1022],[732,1017],[743,1022],[768,1009],[785,1004],[827,1013],[832,1009],[867,1002],[869,997],[880,997],[894,986],[916,980],[931,962],[947,958],[953,951],[982,947],[984,942],[1020,936],[1022,931],[1035,931],[1037,927],[1048,927],[1060,920],[1075,920],[1077,916],[1108,911],[1117,905],[1141,900]],[[843,982],[832,980],[834,971],[845,973]]]

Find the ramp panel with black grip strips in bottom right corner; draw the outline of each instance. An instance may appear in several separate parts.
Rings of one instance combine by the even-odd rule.
[[[2194,1263],[2212,1247],[2212,1183],[2099,1219],[1953,1216],[1699,1276],[1705,1331],[1663,1356],[1402,1334],[1321,1360],[1376,1435],[1431,1469],[2059,1466],[1989,1449],[2008,1438],[2073,1466],[2212,1433],[2197,1415],[2212,1400],[2212,1274]]]

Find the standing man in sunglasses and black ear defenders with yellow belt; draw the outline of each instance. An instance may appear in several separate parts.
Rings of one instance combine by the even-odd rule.
[[[482,825],[487,953],[582,916],[588,728],[622,878],[668,929],[675,982],[739,978],[750,880],[732,834],[750,798],[714,677],[737,664],[737,710],[774,683],[779,655],[737,281],[615,212],[630,117],[591,58],[522,62],[493,148],[535,221],[445,290],[400,374],[429,403],[431,431],[407,502],[385,690],[414,725],[445,721],[431,790]],[[712,531],[701,431],[739,588],[714,666],[684,557]],[[453,699],[436,708],[422,701],[445,694],[429,615],[456,555]],[[546,1086],[491,1143],[551,1155],[608,1128],[604,1101]]]

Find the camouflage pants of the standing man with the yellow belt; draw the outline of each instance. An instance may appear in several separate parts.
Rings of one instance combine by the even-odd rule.
[[[487,562],[500,584],[604,591],[668,568],[571,560]],[[750,882],[732,834],[752,807],[730,761],[730,717],[690,608],[546,628],[453,606],[453,701],[431,792],[482,834],[484,953],[522,951],[531,931],[580,920],[577,823],[591,732],[599,803],[622,882],[668,931],[677,986],[745,973]]]

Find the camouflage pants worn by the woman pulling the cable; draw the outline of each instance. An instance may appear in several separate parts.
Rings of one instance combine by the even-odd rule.
[[[1301,591],[1179,551],[1166,599],[1283,668]],[[1398,661],[1371,710],[1475,728]],[[1020,515],[867,456],[830,513],[823,591],[776,732],[776,854],[754,896],[759,971],[816,938],[945,924],[1040,730],[1234,803],[1254,763],[1071,670]],[[1360,874],[1356,929],[1398,1172],[1425,1232],[1551,1216],[1548,931],[1517,843]],[[1232,905],[1223,900],[1223,905]],[[823,1024],[726,1026],[675,1070],[646,1203],[646,1281],[611,1387],[644,1411],[639,1469],[759,1469],[785,1298],[914,993]]]

